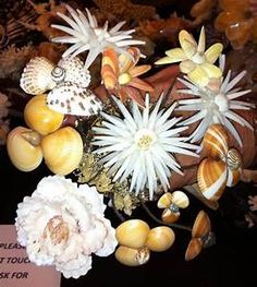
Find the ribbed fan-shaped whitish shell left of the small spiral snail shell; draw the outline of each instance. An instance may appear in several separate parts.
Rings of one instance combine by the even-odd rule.
[[[22,89],[30,95],[39,95],[52,89],[56,86],[51,77],[53,68],[54,65],[45,57],[30,59],[20,80]]]

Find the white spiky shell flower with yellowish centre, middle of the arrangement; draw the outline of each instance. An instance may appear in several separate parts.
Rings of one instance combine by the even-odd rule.
[[[102,127],[94,128],[96,135],[93,144],[99,146],[95,152],[103,154],[101,163],[110,168],[110,175],[114,175],[113,181],[119,179],[122,182],[132,176],[130,191],[135,190],[138,194],[147,188],[151,200],[158,181],[167,191],[171,170],[182,174],[173,154],[197,156],[188,150],[197,150],[198,146],[186,143],[187,137],[180,136],[179,133],[187,127],[174,128],[181,120],[171,118],[176,103],[167,110],[159,110],[161,96],[150,111],[147,95],[143,112],[134,101],[130,112],[122,101],[115,97],[113,100],[124,118],[102,112],[106,119]]]

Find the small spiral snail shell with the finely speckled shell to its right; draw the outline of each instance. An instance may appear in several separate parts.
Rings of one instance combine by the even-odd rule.
[[[60,77],[58,77],[58,74],[60,74]],[[78,57],[62,58],[53,69],[52,76],[54,81],[71,82],[81,87],[88,87],[91,81],[89,71],[84,68],[84,63]]]

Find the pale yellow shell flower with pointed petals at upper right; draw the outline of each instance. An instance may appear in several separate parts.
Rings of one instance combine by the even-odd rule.
[[[156,64],[181,62],[181,72],[187,74],[188,79],[199,86],[206,86],[210,79],[218,79],[222,75],[221,69],[213,63],[219,58],[223,46],[216,43],[205,50],[206,36],[204,27],[200,31],[198,45],[185,29],[180,32],[179,40],[181,48],[166,51],[167,57],[156,61]]]

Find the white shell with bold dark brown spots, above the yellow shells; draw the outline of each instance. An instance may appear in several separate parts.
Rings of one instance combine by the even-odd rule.
[[[90,91],[71,82],[62,82],[47,96],[49,108],[63,115],[89,117],[102,109],[102,103]]]

